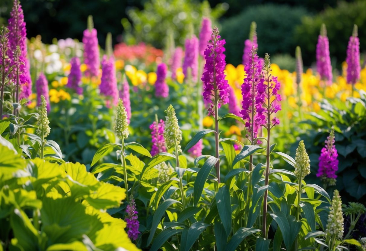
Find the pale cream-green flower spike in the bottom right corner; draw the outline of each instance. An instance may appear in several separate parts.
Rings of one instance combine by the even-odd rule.
[[[325,232],[331,237],[334,236],[338,240],[341,240],[344,232],[343,221],[342,200],[338,190],[334,190],[332,206],[330,206],[328,224],[326,224]]]

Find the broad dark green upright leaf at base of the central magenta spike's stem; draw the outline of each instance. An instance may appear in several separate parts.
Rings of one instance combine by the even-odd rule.
[[[219,211],[220,219],[223,222],[226,235],[229,236],[231,232],[231,201],[228,186],[224,185],[219,188],[215,195],[217,210]]]

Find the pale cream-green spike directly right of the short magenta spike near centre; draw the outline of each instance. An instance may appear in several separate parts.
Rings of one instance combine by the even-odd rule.
[[[180,131],[180,127],[178,125],[175,109],[172,105],[169,105],[168,109],[165,110],[165,113],[167,113],[167,116],[165,116],[164,128],[165,145],[167,146],[167,149],[170,149],[176,142],[179,151],[180,141],[182,141],[182,131]]]

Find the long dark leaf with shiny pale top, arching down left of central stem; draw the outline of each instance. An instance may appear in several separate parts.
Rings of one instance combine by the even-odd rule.
[[[197,177],[194,180],[193,186],[193,198],[194,198],[194,205],[197,206],[199,199],[201,198],[203,187],[205,186],[206,180],[210,175],[210,172],[213,166],[218,161],[218,158],[210,156],[206,161],[205,164],[199,169],[197,173]]]

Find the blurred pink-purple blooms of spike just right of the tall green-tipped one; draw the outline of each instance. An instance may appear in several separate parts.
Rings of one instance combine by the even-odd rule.
[[[118,104],[116,67],[113,56],[110,56],[109,58],[107,55],[103,56],[102,78],[99,89],[101,94],[112,99],[113,105],[116,106]],[[109,101],[107,101],[107,106],[110,106]]]

